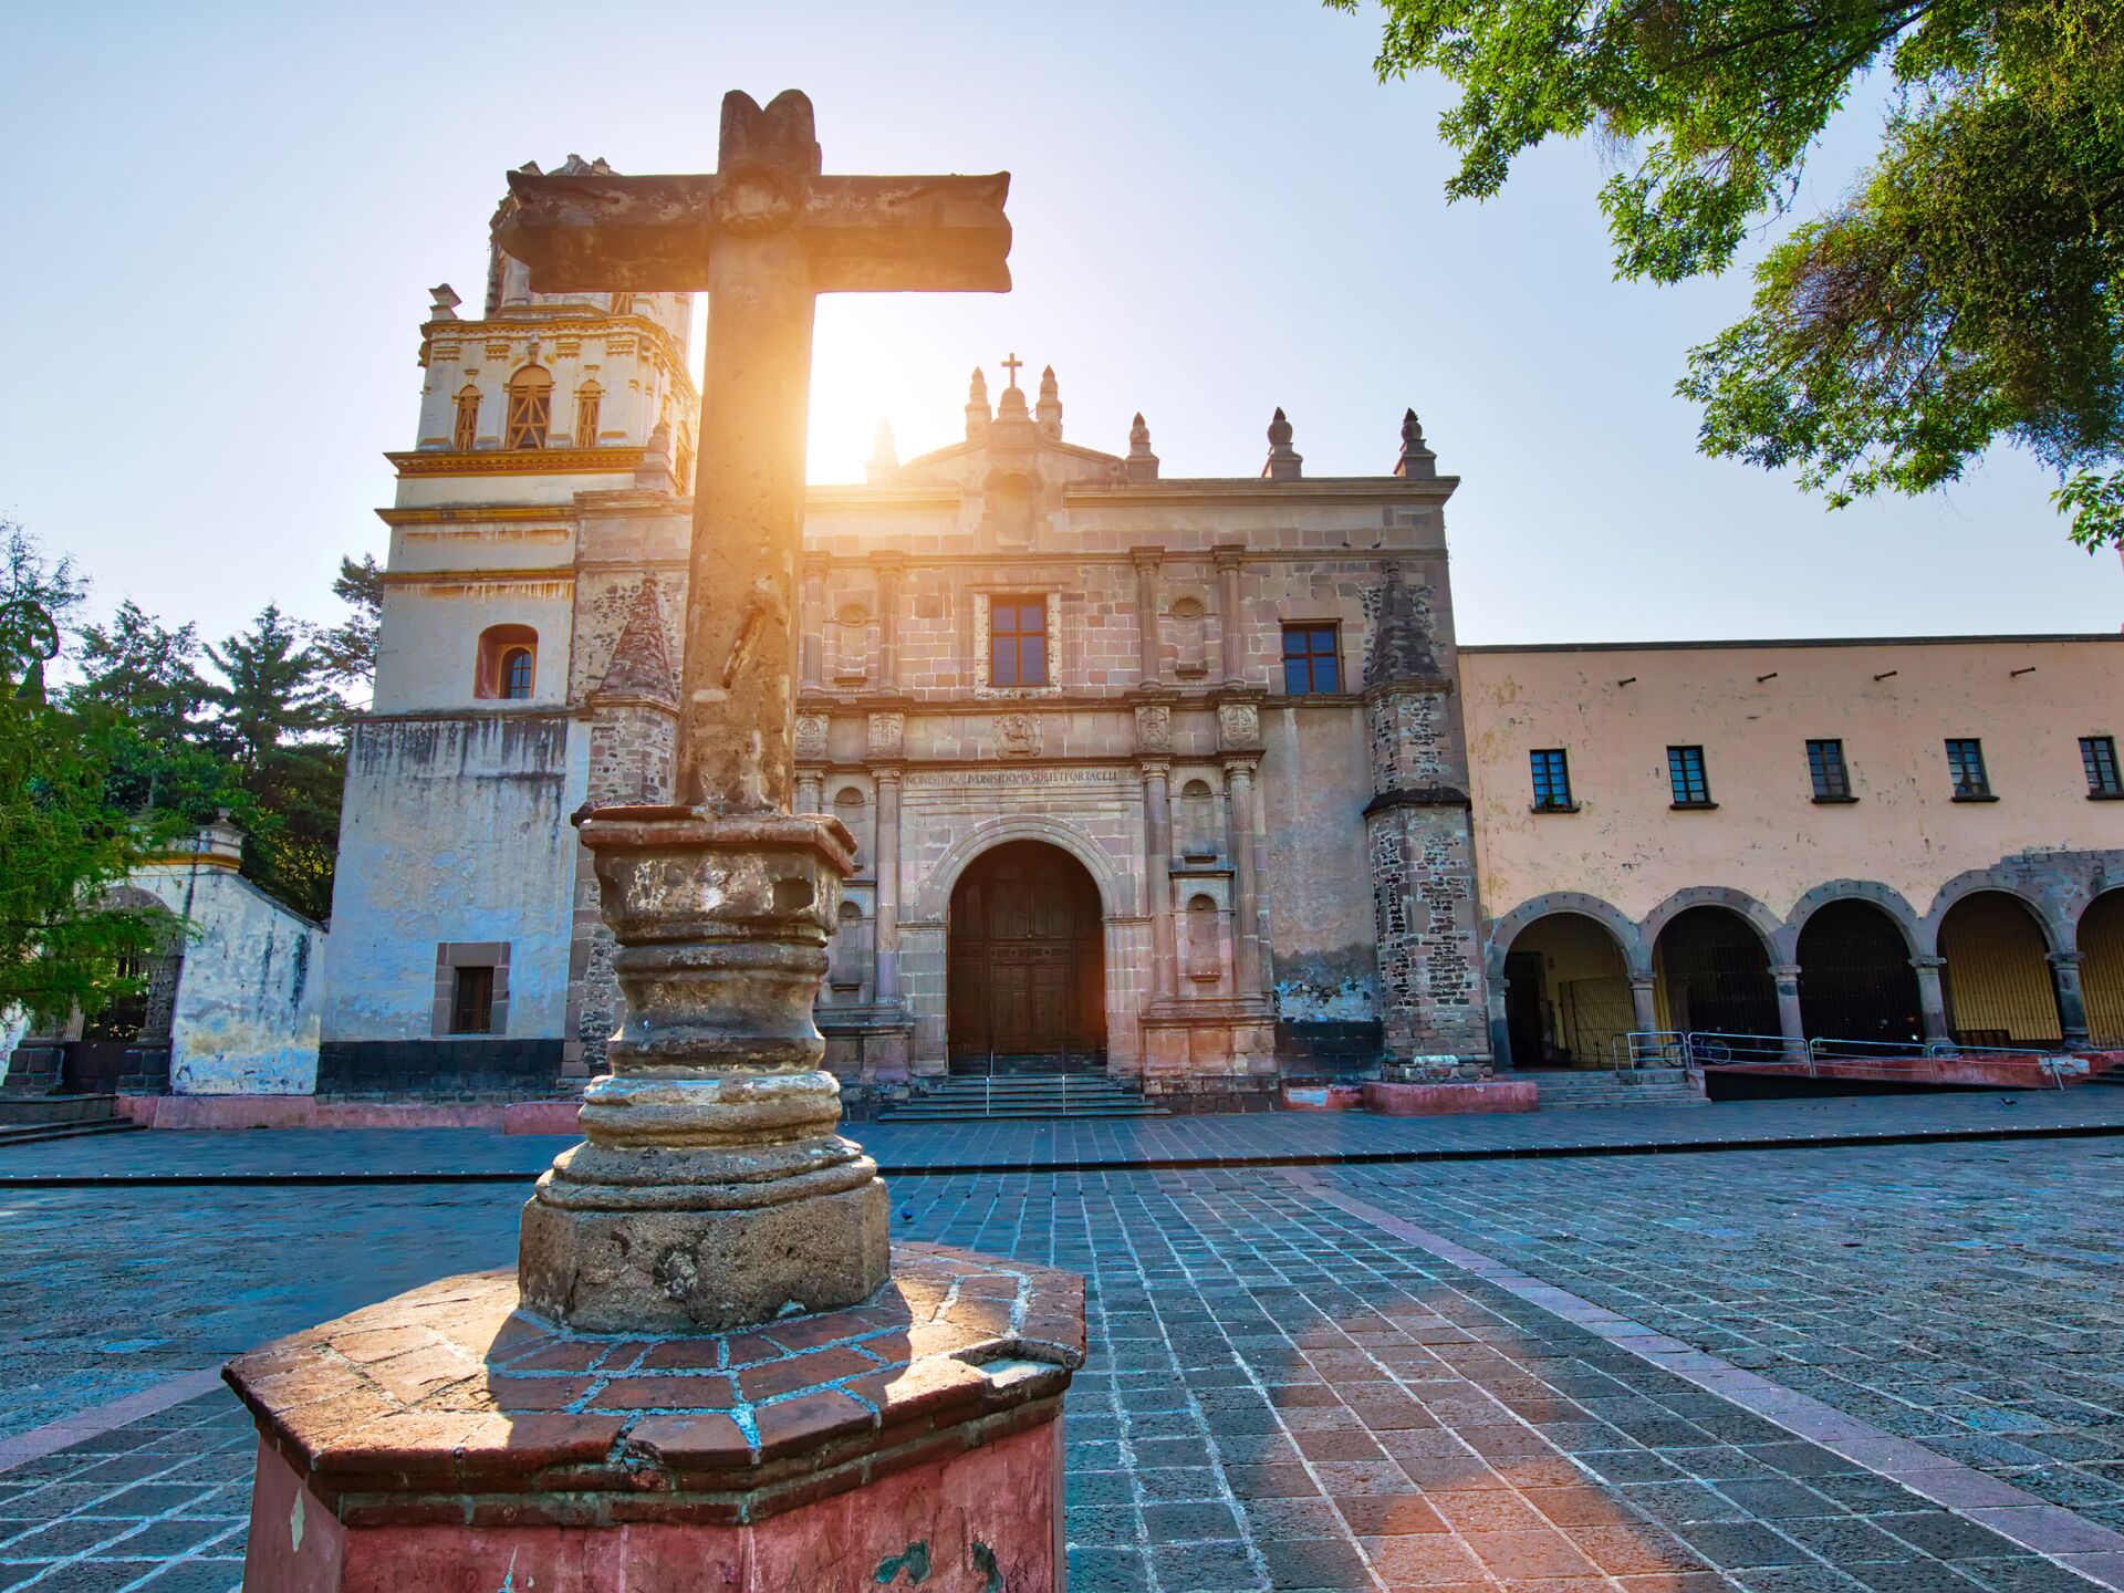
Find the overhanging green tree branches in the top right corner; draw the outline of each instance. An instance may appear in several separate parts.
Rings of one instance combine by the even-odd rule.
[[[1381,4],[1381,76],[1459,91],[1449,198],[1595,134],[1618,155],[1599,195],[1616,274],[1655,282],[1725,270],[1786,217],[1831,117],[1886,68],[1871,168],[1689,357],[1699,444],[1797,469],[1831,506],[2014,444],[2058,474],[2075,542],[2124,546],[2124,0]]]

